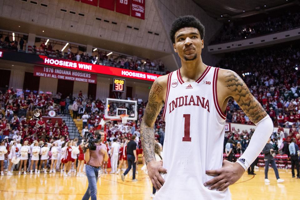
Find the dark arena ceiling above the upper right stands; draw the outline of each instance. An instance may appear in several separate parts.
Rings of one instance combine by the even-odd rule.
[[[299,0],[193,0],[205,12],[218,20],[247,17],[250,15],[267,12],[268,10],[279,9],[290,6],[292,4],[299,4]],[[265,7],[266,5],[266,7]],[[258,9],[259,7],[259,9]],[[244,12],[245,11],[245,12]],[[226,16],[226,14],[228,16]],[[221,17],[223,15],[223,17]],[[225,17],[225,16],[226,17]]]

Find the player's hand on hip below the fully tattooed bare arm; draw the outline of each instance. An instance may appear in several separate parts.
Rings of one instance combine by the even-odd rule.
[[[167,169],[162,167],[163,161],[150,161],[147,164],[148,176],[155,189],[159,190],[165,183],[160,173],[167,173]]]

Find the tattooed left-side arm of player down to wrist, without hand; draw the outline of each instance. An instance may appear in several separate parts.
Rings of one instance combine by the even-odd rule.
[[[143,120],[141,122],[141,142],[146,164],[155,160],[155,138],[153,126],[163,105],[163,101],[159,98],[162,90],[163,87],[158,83],[157,80],[155,80],[150,90],[149,100],[145,109]]]

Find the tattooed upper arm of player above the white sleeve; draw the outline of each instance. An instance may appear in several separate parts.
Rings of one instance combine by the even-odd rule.
[[[226,72],[225,75],[225,86],[231,90],[231,96],[250,120],[253,123],[257,123],[266,117],[266,111],[257,99],[253,97],[242,78],[232,71]]]

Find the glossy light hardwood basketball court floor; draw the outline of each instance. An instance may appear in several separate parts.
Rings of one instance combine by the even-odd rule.
[[[232,199],[265,200],[265,199],[299,199],[300,179],[292,178],[291,170],[278,169],[284,183],[277,183],[274,171],[269,170],[271,183],[264,183],[264,170],[258,169],[257,175],[247,175],[230,186]],[[14,172],[17,174],[17,172]],[[130,175],[131,174],[131,175]],[[98,181],[97,198],[101,200],[150,200],[152,184],[149,177],[140,171],[136,175],[138,182],[131,182],[132,172],[122,182],[120,175],[102,174]],[[63,174],[13,175],[0,177],[0,199],[44,199],[80,200],[88,186],[86,177],[64,177]],[[197,199],[195,197],[195,199]]]

